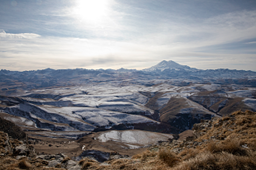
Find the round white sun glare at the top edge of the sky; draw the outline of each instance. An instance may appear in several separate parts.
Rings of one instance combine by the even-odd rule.
[[[98,23],[107,16],[109,0],[77,0],[75,14],[80,21]]]

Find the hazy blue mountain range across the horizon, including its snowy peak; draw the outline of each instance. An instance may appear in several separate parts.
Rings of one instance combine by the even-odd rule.
[[[136,69],[43,69],[32,71],[0,70],[1,94],[11,95],[17,89],[81,85],[90,82],[120,80],[184,79],[187,82],[250,85],[256,87],[256,72],[230,69],[196,69],[174,61],[162,61],[143,70]]]

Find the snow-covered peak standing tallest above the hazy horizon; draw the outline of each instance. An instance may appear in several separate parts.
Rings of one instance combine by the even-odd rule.
[[[190,67],[185,66],[185,65],[180,65],[180,64],[178,64],[178,63],[176,63],[172,60],[170,60],[170,61],[163,60],[160,63],[158,63],[157,65],[152,66],[151,68],[143,69],[143,71],[156,71],[156,70],[163,71],[165,69],[175,69],[175,70],[185,69],[185,70],[188,70],[188,71],[198,70],[196,68],[190,68]]]

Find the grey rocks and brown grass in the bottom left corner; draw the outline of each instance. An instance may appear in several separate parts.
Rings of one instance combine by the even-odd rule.
[[[37,155],[32,146],[13,139],[0,131],[0,170],[19,168],[27,170],[49,169],[80,170],[77,161],[71,160],[62,153],[54,155]]]

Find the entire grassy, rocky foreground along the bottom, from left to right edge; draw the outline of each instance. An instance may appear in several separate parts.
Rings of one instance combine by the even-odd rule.
[[[80,157],[80,161],[71,160],[64,154],[36,155],[22,141],[10,140],[0,132],[0,169],[255,170],[256,112],[238,111],[229,115],[202,120],[194,125],[193,136],[186,140],[161,141],[132,158],[117,153],[99,155],[92,151],[87,151],[89,157]],[[27,147],[27,153],[11,150],[21,146]],[[105,157],[108,160],[101,163]]]

